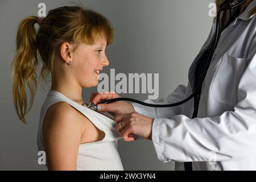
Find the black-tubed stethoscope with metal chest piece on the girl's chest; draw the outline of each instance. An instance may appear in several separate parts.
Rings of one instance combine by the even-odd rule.
[[[148,106],[148,107],[174,107],[174,106],[177,106],[177,105],[184,104],[185,102],[188,102],[189,100],[191,100],[191,98],[193,98],[196,95],[197,91],[199,89],[201,89],[204,78],[207,75],[207,71],[208,71],[210,62],[212,61],[213,53],[216,50],[218,40],[220,39],[220,35],[221,35],[221,32],[220,32],[220,16],[221,16],[222,11],[232,10],[232,9],[242,5],[245,2],[246,2],[246,0],[236,0],[236,1],[231,2],[231,3],[230,2],[228,2],[228,3],[223,2],[220,5],[220,9],[218,10],[217,19],[216,19],[216,34],[214,36],[214,44],[213,44],[213,47],[212,47],[212,49],[209,53],[207,63],[205,65],[205,68],[204,68],[204,71],[203,71],[203,75],[202,75],[199,83],[197,84],[196,89],[193,91],[193,93],[190,96],[188,96],[187,98],[185,98],[183,101],[176,102],[174,104],[148,104],[146,102],[138,101],[138,100],[135,100],[133,98],[122,97],[122,98],[114,98],[112,100],[101,101],[99,104],[110,104],[110,103],[116,102],[116,101],[130,101],[130,102],[136,102],[138,104]],[[95,111],[98,110],[97,105],[95,105],[93,102],[89,103],[88,108],[93,109]]]

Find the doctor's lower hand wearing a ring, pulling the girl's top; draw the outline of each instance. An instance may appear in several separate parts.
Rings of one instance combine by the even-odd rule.
[[[134,141],[134,134],[152,140],[153,118],[133,112],[130,114],[116,114],[114,121],[117,122],[115,129],[126,142]]]

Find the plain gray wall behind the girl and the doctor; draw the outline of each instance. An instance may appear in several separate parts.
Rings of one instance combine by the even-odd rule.
[[[36,134],[40,108],[46,98],[40,84],[35,102],[26,115],[27,125],[18,120],[11,100],[10,64],[15,54],[18,23],[37,15],[38,3],[47,12],[71,1],[0,1],[0,169],[46,170],[38,164]],[[167,96],[179,84],[187,85],[188,68],[206,40],[212,18],[210,0],[91,0],[75,1],[105,15],[115,28],[115,42],[107,48],[109,73],[159,73],[159,97]],[[46,87],[49,89],[49,86]],[[97,88],[83,90],[84,101]],[[121,94],[145,100],[147,94]],[[173,163],[161,163],[149,140],[126,143],[118,150],[126,170],[172,170]]]

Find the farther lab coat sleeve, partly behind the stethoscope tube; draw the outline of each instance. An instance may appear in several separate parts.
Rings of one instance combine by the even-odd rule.
[[[160,98],[157,101],[146,100],[149,104],[172,104],[184,100],[187,86],[179,85],[169,96]],[[148,107],[137,103],[131,103],[137,113],[151,118],[172,118],[174,115],[181,114],[182,105],[175,107]]]

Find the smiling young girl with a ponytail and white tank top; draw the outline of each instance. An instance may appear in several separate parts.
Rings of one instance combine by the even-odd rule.
[[[22,122],[36,93],[38,51],[42,84],[51,75],[38,128],[38,148],[46,152],[49,170],[123,170],[115,122],[82,100],[82,88],[97,86],[99,73],[109,65],[105,48],[112,41],[110,22],[77,6],[53,9],[46,18],[28,16],[19,25],[12,76],[14,105]],[[31,93],[28,109],[25,82]]]

